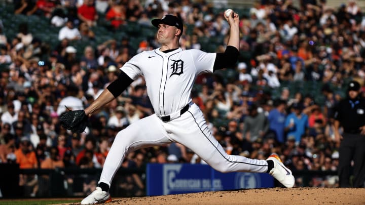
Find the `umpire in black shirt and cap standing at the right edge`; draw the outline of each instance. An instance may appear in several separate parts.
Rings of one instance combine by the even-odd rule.
[[[342,136],[339,134],[343,127]],[[353,187],[364,187],[365,181],[365,99],[360,97],[360,84],[351,81],[347,98],[339,102],[335,112],[335,136],[341,140],[339,158],[340,187],[350,187],[351,160]]]

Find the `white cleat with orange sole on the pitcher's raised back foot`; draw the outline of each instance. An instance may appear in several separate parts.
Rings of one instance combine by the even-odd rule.
[[[271,176],[287,188],[294,186],[295,179],[293,174],[284,166],[277,154],[271,154],[266,160],[272,160],[274,162],[274,168],[269,172]]]

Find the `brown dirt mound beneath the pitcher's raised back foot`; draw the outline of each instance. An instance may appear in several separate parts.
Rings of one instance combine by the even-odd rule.
[[[115,198],[107,204],[365,204],[364,195],[365,188],[268,188]]]

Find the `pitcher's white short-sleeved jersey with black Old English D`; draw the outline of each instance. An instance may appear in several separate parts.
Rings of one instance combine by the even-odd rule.
[[[215,53],[176,49],[163,53],[145,51],[129,60],[121,70],[130,78],[143,75],[147,93],[158,116],[179,112],[190,101],[199,73],[213,72]]]

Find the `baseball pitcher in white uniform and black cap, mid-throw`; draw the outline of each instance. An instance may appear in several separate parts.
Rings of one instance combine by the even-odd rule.
[[[234,67],[237,62],[239,16],[233,11],[230,13],[225,15],[230,34],[224,53],[183,50],[178,44],[184,30],[179,18],[165,15],[162,19],[152,20],[152,24],[158,28],[156,37],[161,47],[135,55],[120,68],[122,72],[118,79],[88,108],[66,112],[68,114],[61,117],[61,123],[68,130],[83,131],[83,122],[87,116],[118,97],[140,75],[145,78],[147,93],[155,111],[155,114],[134,122],[117,134],[106,157],[98,187],[81,204],[112,200],[108,189],[128,152],[171,142],[190,148],[217,171],[269,173],[284,186],[294,186],[294,176],[276,154],[266,160],[228,155],[212,136],[202,111],[190,98],[197,75]]]

